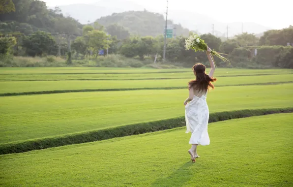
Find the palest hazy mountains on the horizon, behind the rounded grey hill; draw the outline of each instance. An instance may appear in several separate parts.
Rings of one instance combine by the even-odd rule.
[[[90,23],[94,22],[95,20],[103,21],[106,16],[110,16],[113,13],[122,13],[128,12],[128,16],[131,17],[129,14],[132,12],[135,14],[136,11],[144,11],[147,9],[151,12],[157,12],[156,6],[144,7],[137,3],[128,1],[128,0],[100,0],[97,3],[93,4],[71,4],[71,5],[64,5],[59,6],[62,10],[64,15],[71,15],[73,18],[79,20],[82,24],[87,24],[88,21]],[[161,16],[165,16],[160,14]],[[136,15],[132,15],[135,17]],[[229,26],[228,34],[229,37],[234,36],[235,34],[241,33],[241,23],[223,23],[215,20],[214,18],[208,17],[203,14],[198,14],[196,12],[187,12],[182,10],[170,11],[168,18],[172,20],[173,23],[181,24],[183,28],[187,28],[192,31],[198,31],[199,33],[212,33],[212,24],[214,24],[214,33],[217,36],[227,35],[227,25]],[[123,18],[123,20],[128,20],[128,18]],[[161,18],[160,18],[161,19]],[[123,21],[123,22],[124,22]],[[152,20],[153,23],[156,23],[156,20]],[[125,21],[126,22],[126,21]],[[146,21],[147,22],[147,21]],[[138,22],[135,22],[137,24]],[[131,29],[131,23],[123,23],[124,27],[129,26],[128,28]],[[162,25],[159,21],[158,24]],[[163,24],[164,25],[164,24]],[[161,26],[155,26],[161,27]],[[145,28],[147,29],[147,28]],[[256,23],[243,23],[243,32],[248,33],[262,33],[264,31],[270,30],[271,28],[264,27],[260,24]],[[162,30],[162,29],[161,29]],[[134,30],[136,32],[136,30]],[[131,31],[132,32],[132,31]],[[142,33],[142,31],[140,31]],[[162,32],[162,31],[161,31]],[[161,33],[160,32],[160,33]],[[143,31],[143,33],[146,33]],[[185,33],[185,31],[184,31]],[[149,33],[147,35],[152,35]]]

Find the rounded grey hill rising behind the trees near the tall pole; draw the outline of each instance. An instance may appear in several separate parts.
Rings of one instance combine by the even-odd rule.
[[[128,11],[122,13],[113,13],[111,16],[101,17],[96,20],[99,24],[105,26],[117,24],[127,28],[130,33],[135,35],[157,36],[163,34],[165,18],[162,14],[148,11]],[[173,24],[168,20],[168,24]],[[180,24],[173,24],[176,28],[176,35],[188,36],[189,30],[183,28]]]

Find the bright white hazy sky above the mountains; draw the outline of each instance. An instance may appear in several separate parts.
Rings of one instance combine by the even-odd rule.
[[[43,0],[47,6],[95,3],[99,0]],[[166,0],[128,0],[164,13]],[[269,3],[270,2],[270,3]],[[103,6],[103,4],[100,4]],[[255,22],[273,29],[293,25],[293,0],[169,0],[169,11],[186,10],[221,22]],[[173,15],[174,16],[174,15]]]

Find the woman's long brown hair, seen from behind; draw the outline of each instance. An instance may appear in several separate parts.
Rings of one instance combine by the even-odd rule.
[[[214,89],[212,82],[215,82],[217,79],[209,77],[205,73],[204,64],[197,63],[192,67],[192,70],[196,74],[196,79],[188,82],[189,90],[195,88],[199,92],[207,92],[210,88]]]

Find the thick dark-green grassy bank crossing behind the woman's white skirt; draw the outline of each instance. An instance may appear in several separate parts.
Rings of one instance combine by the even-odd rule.
[[[212,113],[209,117],[209,123],[219,122],[224,120],[231,120],[237,118],[246,118],[251,116],[261,116],[275,113],[291,113],[291,108],[279,109],[258,109],[258,110],[239,110],[230,112]],[[117,126],[108,129],[94,130],[76,134],[67,134],[57,137],[33,139],[22,142],[13,142],[0,144],[0,155],[23,153],[32,150],[40,150],[52,147],[59,147],[71,144],[80,144],[86,142],[100,141],[111,138],[130,136],[136,134],[143,134],[146,132],[155,132],[159,130],[166,130],[185,125],[184,117],[177,117],[173,119],[159,120],[154,122],[145,122],[133,125]]]

